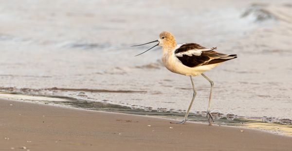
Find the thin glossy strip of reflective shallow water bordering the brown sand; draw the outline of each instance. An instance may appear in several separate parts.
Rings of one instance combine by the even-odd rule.
[[[134,106],[121,106],[103,102],[88,101],[74,99],[70,97],[46,97],[46,96],[33,96],[23,95],[15,93],[1,93],[0,98],[11,99],[17,101],[31,102],[37,104],[46,104],[53,106],[66,106],[78,109],[94,110],[94,111],[106,111],[106,112],[117,112],[135,115],[146,115],[154,116],[159,118],[183,120],[184,114],[176,111],[166,111],[163,109],[141,109]],[[251,118],[251,117],[239,117],[236,115],[228,114],[223,115],[220,113],[212,113],[215,125],[224,126],[237,126],[243,128],[259,129],[266,132],[271,132],[278,135],[292,136],[292,121],[290,120],[279,120],[269,118]],[[188,121],[208,123],[206,118],[206,112],[191,113],[188,117]]]

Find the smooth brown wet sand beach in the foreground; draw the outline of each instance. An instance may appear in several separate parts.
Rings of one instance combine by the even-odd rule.
[[[1,151],[23,151],[21,147],[30,151],[288,151],[291,142],[292,137],[250,129],[170,124],[166,119],[0,99]]]

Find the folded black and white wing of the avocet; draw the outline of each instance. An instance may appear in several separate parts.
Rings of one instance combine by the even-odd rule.
[[[226,55],[214,51],[217,47],[206,48],[199,44],[183,44],[174,51],[175,56],[188,67],[220,63],[237,58],[237,55]]]

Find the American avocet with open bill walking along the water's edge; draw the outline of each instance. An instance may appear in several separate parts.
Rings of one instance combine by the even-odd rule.
[[[174,36],[170,32],[167,32],[167,31],[161,32],[158,40],[155,40],[153,42],[149,42],[146,44],[155,43],[155,42],[158,42],[157,45],[162,46],[162,50],[163,50],[162,61],[164,63],[164,66],[173,73],[190,76],[191,78],[191,82],[192,82],[192,86],[194,90],[193,98],[186,111],[183,121],[178,122],[178,123],[183,124],[186,122],[187,116],[190,112],[191,106],[197,94],[192,76],[202,75],[211,84],[209,103],[208,103],[208,109],[207,109],[207,117],[208,117],[209,125],[212,125],[211,120],[213,122],[214,120],[210,113],[210,103],[212,99],[212,89],[214,86],[214,82],[210,78],[205,76],[203,72],[211,70],[212,68],[218,66],[224,61],[235,59],[237,58],[237,55],[226,55],[226,54],[214,51],[215,49],[217,49],[217,47],[206,48],[195,43],[184,43],[184,44],[177,45]],[[141,44],[141,45],[146,45],[146,44]],[[153,47],[157,45],[154,45]],[[140,45],[133,45],[133,46],[140,46]],[[151,47],[150,49],[152,49],[153,47]],[[144,51],[143,53],[145,53],[146,51]],[[141,55],[143,53],[140,53],[138,55]]]

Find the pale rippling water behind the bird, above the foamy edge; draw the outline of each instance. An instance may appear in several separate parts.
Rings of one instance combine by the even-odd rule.
[[[189,77],[164,68],[161,48],[129,47],[168,30],[238,55],[206,72],[212,112],[292,119],[290,0],[9,0],[0,21],[0,91],[183,114]],[[191,112],[203,113],[209,83],[194,82]]]

